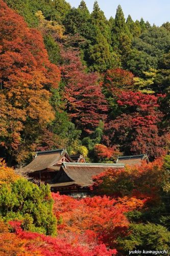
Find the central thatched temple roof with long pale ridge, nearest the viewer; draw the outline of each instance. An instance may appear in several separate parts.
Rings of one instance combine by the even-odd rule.
[[[92,177],[110,168],[124,168],[125,164],[63,163],[51,187],[68,185],[90,186]],[[64,178],[63,178],[64,177]]]

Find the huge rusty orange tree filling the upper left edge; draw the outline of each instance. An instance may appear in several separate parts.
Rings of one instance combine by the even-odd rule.
[[[48,60],[41,34],[0,4],[0,144],[10,158],[24,159],[54,118],[49,90],[58,87],[60,71]]]

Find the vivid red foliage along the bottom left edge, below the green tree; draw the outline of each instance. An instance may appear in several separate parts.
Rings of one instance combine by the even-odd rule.
[[[70,244],[66,239],[47,237],[43,234],[24,231],[20,228],[20,222],[11,221],[11,227],[15,233],[9,233],[8,228],[0,230],[0,252],[9,255],[43,255],[43,256],[111,256],[116,250],[107,250],[104,244],[96,245],[93,248]],[[1,243],[3,239],[3,243]],[[12,243],[11,243],[12,241]],[[2,254],[7,255],[7,254]]]

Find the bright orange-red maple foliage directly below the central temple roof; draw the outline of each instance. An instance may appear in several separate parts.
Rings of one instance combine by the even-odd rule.
[[[69,196],[53,194],[54,214],[62,219],[58,224],[60,237],[80,244],[104,243],[111,248],[117,245],[117,238],[127,234],[129,221],[125,213],[143,207],[145,201],[135,197],[112,199],[95,196],[74,199]]]

